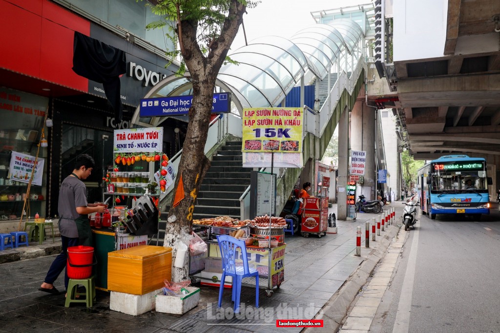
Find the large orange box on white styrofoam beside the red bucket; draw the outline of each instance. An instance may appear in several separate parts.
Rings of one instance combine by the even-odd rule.
[[[107,289],[143,295],[171,279],[172,248],[139,245],[108,253]]]

